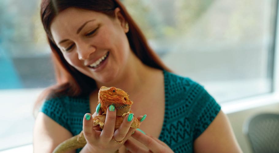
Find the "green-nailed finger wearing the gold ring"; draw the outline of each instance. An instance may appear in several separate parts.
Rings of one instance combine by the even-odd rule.
[[[120,127],[114,132],[114,140],[121,141],[127,135],[132,122],[134,120],[134,114],[126,115]]]

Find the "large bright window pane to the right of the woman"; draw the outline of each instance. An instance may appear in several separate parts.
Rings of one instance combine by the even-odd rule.
[[[272,91],[277,1],[123,2],[166,65],[217,102]]]

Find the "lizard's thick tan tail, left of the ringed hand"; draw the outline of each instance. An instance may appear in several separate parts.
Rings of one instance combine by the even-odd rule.
[[[85,144],[86,140],[84,138],[83,132],[81,132],[80,134],[73,136],[59,144],[52,153],[63,153],[66,151],[75,150],[84,147]]]

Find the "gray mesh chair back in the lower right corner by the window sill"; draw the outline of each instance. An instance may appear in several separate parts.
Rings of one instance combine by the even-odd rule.
[[[279,114],[257,114],[243,125],[254,153],[279,153]]]

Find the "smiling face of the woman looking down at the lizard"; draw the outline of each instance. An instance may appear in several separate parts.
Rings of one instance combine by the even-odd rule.
[[[68,24],[73,18],[77,20]],[[65,60],[98,84],[114,80],[120,69],[132,66],[126,64],[134,59],[133,54],[128,54],[130,48],[125,35],[128,28],[123,26],[124,22],[123,16],[116,20],[103,13],[69,8],[54,18],[50,31]]]

